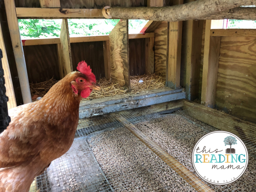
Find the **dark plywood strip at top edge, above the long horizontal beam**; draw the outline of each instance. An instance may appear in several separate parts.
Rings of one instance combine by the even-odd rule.
[[[111,7],[145,7],[147,0],[61,0],[61,8],[103,9]]]

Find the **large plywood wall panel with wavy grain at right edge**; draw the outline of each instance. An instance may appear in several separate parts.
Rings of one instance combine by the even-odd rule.
[[[256,123],[256,38],[222,37],[216,108]]]

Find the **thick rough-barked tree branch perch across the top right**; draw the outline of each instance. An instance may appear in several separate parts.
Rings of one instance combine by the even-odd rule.
[[[197,0],[171,7],[104,7],[108,18],[183,21],[206,19],[256,20],[256,0]],[[106,17],[106,16],[105,16]]]

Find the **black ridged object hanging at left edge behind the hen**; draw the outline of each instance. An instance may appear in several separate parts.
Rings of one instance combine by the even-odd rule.
[[[4,86],[4,70],[2,66],[2,58],[3,53],[0,49],[0,133],[2,133],[7,126],[9,126],[9,122],[11,122],[11,118],[8,115],[7,101],[8,97],[6,96],[6,87]]]

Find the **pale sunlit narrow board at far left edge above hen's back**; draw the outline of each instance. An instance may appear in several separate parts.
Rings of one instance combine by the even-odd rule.
[[[2,28],[0,24],[0,49],[2,50],[3,53],[3,58],[2,58],[2,67],[4,70],[4,81],[5,81],[5,86],[6,86],[6,96],[9,98],[7,102],[7,107],[8,109],[11,109],[13,107],[17,107],[16,104],[16,99],[15,99],[15,94],[13,90],[13,81],[11,80],[11,72],[9,68],[9,63],[6,55],[6,48],[4,46],[4,37],[2,33]]]

